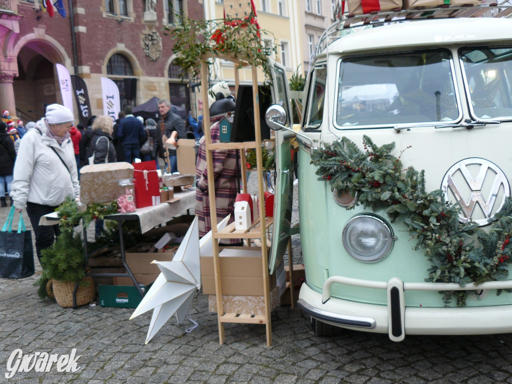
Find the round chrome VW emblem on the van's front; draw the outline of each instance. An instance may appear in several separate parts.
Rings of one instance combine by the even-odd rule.
[[[503,171],[478,157],[453,165],[444,175],[441,189],[447,201],[455,200],[460,205],[459,221],[474,221],[479,227],[492,223],[494,214],[510,196],[510,184]]]

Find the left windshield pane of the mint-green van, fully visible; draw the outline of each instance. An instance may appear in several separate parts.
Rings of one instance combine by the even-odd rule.
[[[338,73],[338,129],[459,118],[449,51],[343,59]]]

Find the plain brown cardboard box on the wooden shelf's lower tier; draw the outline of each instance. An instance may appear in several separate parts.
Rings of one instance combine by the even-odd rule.
[[[226,247],[219,253],[223,295],[264,295],[261,248]],[[214,259],[201,257],[201,281],[204,294],[215,295]],[[275,274],[269,276],[270,289],[275,286]]]

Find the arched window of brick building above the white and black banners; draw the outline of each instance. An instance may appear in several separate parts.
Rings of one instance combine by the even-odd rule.
[[[134,76],[133,67],[128,58],[120,53],[112,55],[106,64],[106,73],[109,78],[117,84],[119,88],[119,101],[121,110],[126,105],[135,106],[137,96],[137,79]]]

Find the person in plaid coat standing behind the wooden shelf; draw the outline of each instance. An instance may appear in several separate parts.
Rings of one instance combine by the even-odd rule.
[[[228,112],[234,111],[235,103],[230,99],[215,101],[210,107],[211,142],[220,142],[219,122]],[[237,150],[216,150],[212,152],[215,182],[215,204],[217,222],[231,214],[228,224],[233,222],[234,200],[240,191],[240,167]],[[206,167],[206,142],[203,136],[199,141],[199,153],[196,162],[196,215],[199,219],[199,236],[211,229],[210,203],[208,197],[208,175]],[[240,239],[222,239],[221,244],[238,245]]]

